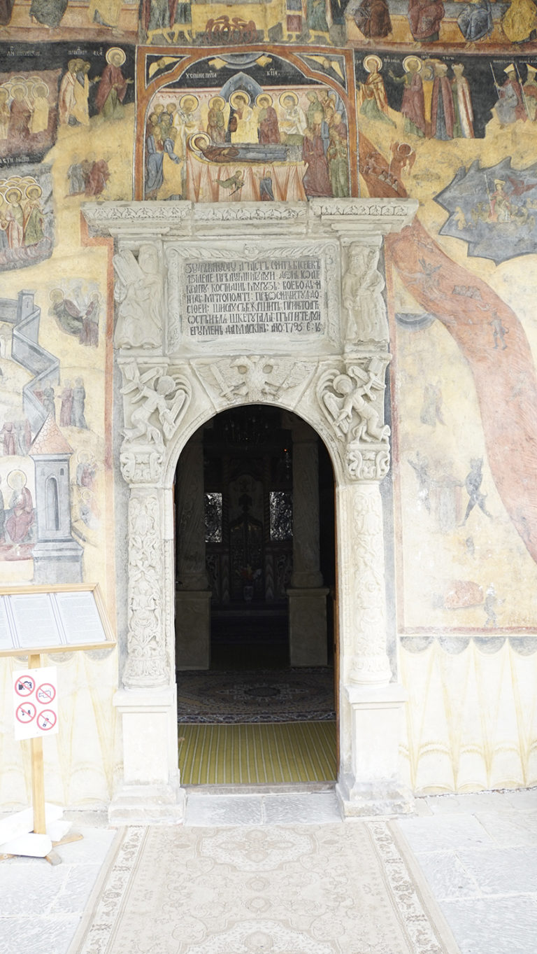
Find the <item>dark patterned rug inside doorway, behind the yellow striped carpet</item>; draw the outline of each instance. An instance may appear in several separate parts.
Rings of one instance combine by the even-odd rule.
[[[334,719],[334,670],[177,673],[178,722],[304,722]]]

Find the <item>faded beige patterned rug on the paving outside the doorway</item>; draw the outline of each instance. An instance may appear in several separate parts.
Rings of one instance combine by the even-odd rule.
[[[389,822],[124,829],[70,954],[457,954]]]

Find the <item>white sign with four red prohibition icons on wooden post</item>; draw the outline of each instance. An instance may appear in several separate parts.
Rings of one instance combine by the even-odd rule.
[[[53,736],[58,732],[57,669],[13,673],[15,738]]]

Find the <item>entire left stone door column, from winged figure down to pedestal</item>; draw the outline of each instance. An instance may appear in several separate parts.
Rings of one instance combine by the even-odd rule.
[[[163,461],[190,401],[190,384],[166,363],[121,364],[125,427],[120,464],[129,487],[127,516],[127,661],[114,696],[121,718],[123,784],[109,809],[114,823],[180,820],[184,791],[177,769],[176,688],[170,666],[165,600]],[[168,560],[168,562],[170,562]]]

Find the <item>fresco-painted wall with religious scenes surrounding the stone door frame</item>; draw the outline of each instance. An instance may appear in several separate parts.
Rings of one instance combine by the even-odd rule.
[[[385,243],[404,764],[417,790],[534,783],[534,4],[5,0],[0,19],[3,579],[35,579],[41,432],[114,617],[114,269],[83,201],[416,197]],[[58,791],[106,801],[115,656],[85,665],[93,769],[73,757],[70,796],[58,753]],[[6,745],[1,797],[22,802]]]

